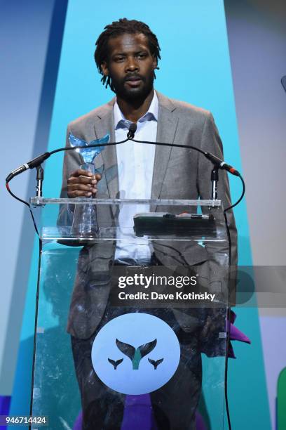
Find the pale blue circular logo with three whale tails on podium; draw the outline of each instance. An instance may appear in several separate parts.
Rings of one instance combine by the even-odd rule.
[[[171,327],[148,313],[125,313],[104,325],[91,359],[101,381],[123,394],[151,393],[177,370],[179,341]]]

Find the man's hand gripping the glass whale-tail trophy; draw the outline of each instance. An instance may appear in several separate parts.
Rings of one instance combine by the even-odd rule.
[[[102,176],[91,174],[90,171],[78,169],[67,180],[67,195],[69,198],[90,197],[97,193],[97,182]]]

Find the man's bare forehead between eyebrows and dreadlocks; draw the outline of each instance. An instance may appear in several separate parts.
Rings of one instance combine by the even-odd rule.
[[[132,51],[137,48],[149,49],[148,39],[143,33],[124,33],[110,37],[108,41],[109,53],[114,51]]]

